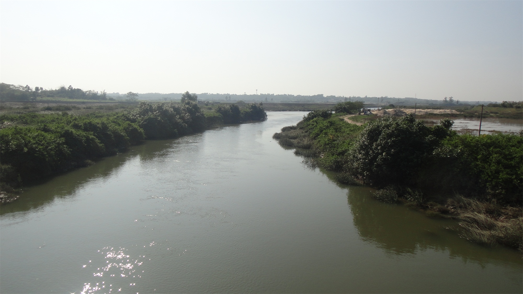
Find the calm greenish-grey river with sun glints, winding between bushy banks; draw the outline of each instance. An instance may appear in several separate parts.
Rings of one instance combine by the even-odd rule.
[[[3,293],[521,292],[522,259],[338,185],[271,138],[305,112],[149,141],[0,210]]]

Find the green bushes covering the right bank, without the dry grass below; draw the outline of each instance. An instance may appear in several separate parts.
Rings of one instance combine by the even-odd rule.
[[[424,195],[460,193],[521,205],[523,137],[458,135],[450,130],[452,123],[444,119],[427,127],[412,116],[385,117],[363,129],[331,118],[327,111],[314,111],[297,128],[303,133],[300,141],[312,140],[301,148],[311,146],[312,153],[320,155],[316,162],[323,167],[378,188],[394,187],[412,202],[423,202]],[[284,129],[274,138],[284,145],[299,146],[295,128]]]

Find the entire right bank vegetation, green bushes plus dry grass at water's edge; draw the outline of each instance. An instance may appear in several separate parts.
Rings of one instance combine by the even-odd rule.
[[[359,107],[346,102],[334,115],[309,112],[274,138],[308,162],[338,172],[338,182],[370,185],[378,200],[456,218],[460,233],[474,242],[522,250],[521,135],[460,135],[448,118],[434,127],[412,115],[362,126],[342,118]]]

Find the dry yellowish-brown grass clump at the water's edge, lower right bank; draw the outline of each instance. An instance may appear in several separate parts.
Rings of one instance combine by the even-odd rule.
[[[458,212],[462,236],[480,244],[503,244],[523,251],[523,217],[521,208],[501,207],[457,196],[449,206]]]

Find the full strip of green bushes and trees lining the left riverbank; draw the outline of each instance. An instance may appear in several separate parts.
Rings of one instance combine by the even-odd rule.
[[[176,138],[222,123],[264,120],[263,106],[219,106],[202,112],[191,96],[184,103],[145,103],[108,114],[0,115],[2,190],[84,166],[145,139]],[[196,98],[194,98],[196,99]]]

